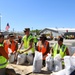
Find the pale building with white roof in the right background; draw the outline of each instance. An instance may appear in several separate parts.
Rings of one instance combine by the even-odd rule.
[[[46,34],[48,38],[58,38],[58,36],[75,38],[75,28],[45,28],[40,31],[40,34]]]

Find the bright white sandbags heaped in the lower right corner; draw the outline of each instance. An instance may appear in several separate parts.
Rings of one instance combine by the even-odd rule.
[[[70,75],[75,70],[75,56],[64,57],[65,69],[52,75]]]

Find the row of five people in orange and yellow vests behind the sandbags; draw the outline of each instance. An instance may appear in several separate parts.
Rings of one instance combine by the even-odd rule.
[[[25,35],[22,37],[22,40],[20,40],[21,44],[19,47],[18,42],[15,41],[13,34],[9,34],[8,39],[4,40],[4,35],[0,33],[0,75],[5,75],[9,54],[14,54],[15,57],[17,57],[17,50],[21,50],[22,46],[24,47],[24,50],[21,52],[25,53],[25,55],[31,54],[33,58],[35,57],[35,50],[42,52],[43,66],[45,66],[45,60],[48,53],[50,53],[53,58],[57,54],[60,54],[61,60],[64,58],[64,56],[69,55],[68,47],[63,44],[62,37],[59,37],[58,42],[54,44],[53,47],[50,47],[50,43],[47,41],[45,34],[40,35],[40,39],[38,41],[34,41],[34,37],[30,34],[30,28],[25,28],[24,33]],[[9,49],[12,51],[10,52]]]

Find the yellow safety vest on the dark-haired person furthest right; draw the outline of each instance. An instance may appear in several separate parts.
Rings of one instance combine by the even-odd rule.
[[[57,49],[58,49],[58,44],[55,44],[55,46],[53,48],[53,56],[54,57],[57,54]],[[61,55],[62,58],[66,55],[65,51],[66,51],[66,46],[62,45],[62,47],[60,48],[60,52],[59,52],[59,54]]]

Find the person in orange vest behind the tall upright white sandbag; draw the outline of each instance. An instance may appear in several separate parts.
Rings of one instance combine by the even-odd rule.
[[[50,51],[49,42],[46,40],[46,35],[42,34],[40,40],[37,42],[36,50],[42,52],[43,55],[43,66],[45,66],[45,58]]]

